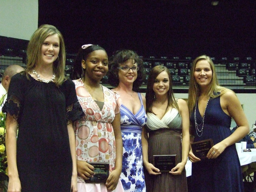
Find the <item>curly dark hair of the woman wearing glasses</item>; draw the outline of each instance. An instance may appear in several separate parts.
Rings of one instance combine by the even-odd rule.
[[[114,55],[109,60],[109,71],[108,71],[108,80],[109,84],[117,87],[119,84],[119,78],[118,78],[118,67],[121,63],[124,63],[125,61],[132,59],[134,60],[139,70],[137,71],[138,76],[137,79],[133,82],[132,90],[135,92],[138,92],[140,85],[142,84],[144,78],[145,78],[145,69],[143,67],[143,61],[140,59],[138,54],[132,50],[119,50],[114,53]]]

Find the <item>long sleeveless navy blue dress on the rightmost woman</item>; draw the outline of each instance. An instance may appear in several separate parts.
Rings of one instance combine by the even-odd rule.
[[[209,100],[205,111],[204,129],[201,137],[196,133],[194,110],[195,108],[191,114],[190,121],[195,133],[195,142],[212,138],[213,145],[215,145],[231,135],[231,117],[222,110],[220,97]],[[197,124],[200,124],[202,119],[197,105]],[[235,144],[228,146],[216,159],[206,159],[192,163],[191,181],[192,191],[194,192],[244,191],[242,171]]]

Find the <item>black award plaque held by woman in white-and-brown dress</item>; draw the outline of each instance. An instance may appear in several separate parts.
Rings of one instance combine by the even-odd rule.
[[[160,172],[169,172],[177,165],[177,155],[153,155],[153,165]]]

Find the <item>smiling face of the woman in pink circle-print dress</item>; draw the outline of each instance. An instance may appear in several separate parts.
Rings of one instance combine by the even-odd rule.
[[[86,78],[100,81],[108,72],[108,55],[104,50],[96,50],[82,60],[82,67],[85,69]]]

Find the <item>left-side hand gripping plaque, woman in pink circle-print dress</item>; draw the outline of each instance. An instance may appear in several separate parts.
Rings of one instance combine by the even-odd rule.
[[[86,161],[76,160],[77,174],[83,179],[88,180],[95,174],[94,167],[87,163]]]

